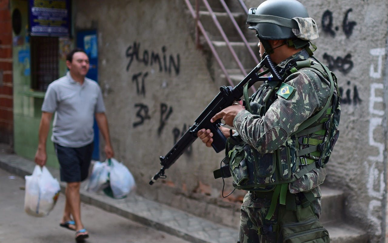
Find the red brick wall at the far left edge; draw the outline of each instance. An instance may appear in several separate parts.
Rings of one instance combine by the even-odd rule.
[[[13,141],[12,23],[9,0],[0,0],[0,142]]]

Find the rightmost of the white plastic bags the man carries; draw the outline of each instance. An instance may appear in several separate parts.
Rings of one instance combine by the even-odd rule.
[[[116,159],[111,159],[109,183],[114,198],[125,198],[135,187],[135,179],[126,166]]]

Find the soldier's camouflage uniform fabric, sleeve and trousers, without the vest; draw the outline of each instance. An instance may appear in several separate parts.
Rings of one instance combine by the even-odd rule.
[[[248,110],[242,110],[234,118],[233,125],[237,129],[240,138],[252,149],[257,150],[258,163],[269,163],[266,154],[272,154],[279,147],[290,146],[293,141],[291,134],[294,133],[303,121],[321,110],[330,96],[330,82],[321,79],[317,73],[309,69],[300,69],[298,72],[289,73],[290,67],[295,66],[296,61],[310,59],[312,65],[316,64],[310,58],[307,51],[300,51],[277,65],[279,73],[286,77],[284,83],[293,87],[295,91],[288,99],[281,96],[273,96],[270,105],[266,108],[265,115],[256,115],[255,106],[252,106],[253,114]],[[262,85],[252,96],[253,102],[259,102],[267,94],[267,87]],[[268,105],[268,104],[267,104]],[[320,139],[323,136],[316,135]],[[252,159],[250,150],[246,150],[246,159]],[[291,157],[295,155],[291,154]],[[272,162],[271,162],[272,163]],[[293,163],[296,163],[294,161]],[[291,178],[294,176],[290,175]],[[288,193],[296,195],[296,201],[304,199],[301,192],[312,192],[314,200],[310,203],[313,214],[318,218],[321,213],[319,185],[326,177],[325,168],[315,168],[303,177],[288,185]],[[263,184],[271,181],[271,177],[262,177]],[[284,205],[279,201],[276,211],[270,220],[265,217],[271,204],[271,192],[250,191],[244,197],[241,206],[240,241],[241,243],[277,242],[277,232],[267,232],[266,226],[278,224],[277,212]],[[259,234],[258,234],[259,233]],[[265,237],[264,237],[265,236]]]

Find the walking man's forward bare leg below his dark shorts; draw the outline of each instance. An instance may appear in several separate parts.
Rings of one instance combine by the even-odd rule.
[[[81,182],[68,182],[66,186],[66,201],[69,203],[71,215],[76,225],[76,231],[83,229],[81,222],[81,199],[80,199]],[[87,232],[79,234],[88,234]]]

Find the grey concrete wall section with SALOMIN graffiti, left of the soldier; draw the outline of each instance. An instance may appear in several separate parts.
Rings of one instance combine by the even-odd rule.
[[[159,156],[165,156],[219,91],[203,52],[195,48],[194,28],[187,22],[192,19],[184,3],[77,1],[74,8],[76,30],[98,30],[99,84],[111,138],[116,158],[135,175],[137,191],[200,216],[214,214],[222,221],[215,215],[217,204],[224,203],[222,181],[214,180],[213,170],[223,153],[215,154],[199,140],[166,170],[166,180],[148,185],[161,168]],[[152,61],[152,55],[159,55],[160,63]],[[231,181],[226,184],[225,195],[232,190]],[[234,227],[239,221],[236,215],[230,216]]]

